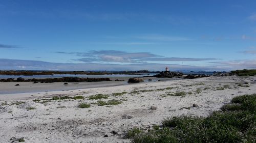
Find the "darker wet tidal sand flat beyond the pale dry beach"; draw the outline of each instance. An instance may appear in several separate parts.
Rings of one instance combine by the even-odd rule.
[[[112,77],[112,81],[100,82],[69,82],[68,85],[63,85],[65,82],[54,83],[33,83],[33,82],[0,82],[0,94],[14,94],[14,93],[35,93],[35,92],[49,92],[49,91],[62,91],[62,90],[75,90],[75,89],[88,89],[99,87],[110,87],[117,85],[128,84],[127,81],[131,77]],[[124,81],[115,81],[124,80]],[[176,78],[156,78],[156,77],[143,77],[145,82],[153,82],[158,80],[176,80]],[[152,79],[152,81],[148,81]],[[180,79],[180,78],[178,78]],[[19,86],[15,86],[19,84]]]

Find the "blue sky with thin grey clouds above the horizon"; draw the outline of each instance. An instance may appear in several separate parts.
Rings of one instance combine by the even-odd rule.
[[[256,68],[256,1],[0,1],[0,69]]]

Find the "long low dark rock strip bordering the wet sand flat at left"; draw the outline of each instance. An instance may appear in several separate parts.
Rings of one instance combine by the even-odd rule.
[[[14,80],[13,78],[8,79],[0,79],[1,82],[41,82],[41,83],[52,83],[52,82],[97,82],[97,81],[111,81],[110,78],[83,78],[83,77],[62,77],[62,78],[45,78],[45,79],[24,79],[24,78],[17,78]]]

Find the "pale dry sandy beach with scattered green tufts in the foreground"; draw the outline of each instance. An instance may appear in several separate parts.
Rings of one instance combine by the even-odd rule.
[[[235,96],[256,93],[255,83],[256,76],[229,76],[68,91],[0,94],[0,142],[12,142],[12,137],[24,137],[25,142],[129,142],[123,136],[133,127],[148,129],[160,125],[167,117],[208,116]],[[182,91],[186,95],[167,95]],[[112,95],[122,92],[127,93]],[[117,99],[122,103],[98,106],[93,104],[97,100],[88,99],[96,94],[110,95],[109,99],[103,101]],[[52,100],[47,103],[33,101],[35,98],[77,95],[84,99]],[[91,107],[79,108],[79,103],[84,102]],[[191,107],[194,103],[198,107]],[[151,106],[157,109],[149,109]],[[28,110],[28,107],[35,109]]]

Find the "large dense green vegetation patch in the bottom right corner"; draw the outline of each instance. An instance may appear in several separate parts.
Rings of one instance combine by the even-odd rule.
[[[208,117],[173,117],[162,126],[127,132],[131,142],[255,142],[256,94],[235,97]]]

